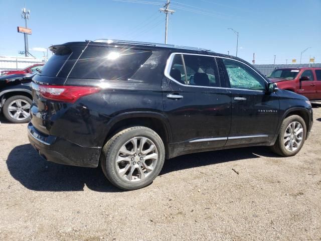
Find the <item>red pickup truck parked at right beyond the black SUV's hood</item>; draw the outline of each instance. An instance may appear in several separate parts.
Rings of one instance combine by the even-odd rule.
[[[321,68],[280,68],[267,77],[280,89],[304,95],[310,101],[321,101]]]

